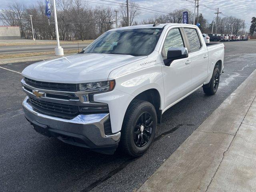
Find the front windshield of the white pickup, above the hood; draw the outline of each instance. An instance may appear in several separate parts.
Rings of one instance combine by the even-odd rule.
[[[108,31],[90,44],[84,53],[147,56],[153,52],[162,28]]]

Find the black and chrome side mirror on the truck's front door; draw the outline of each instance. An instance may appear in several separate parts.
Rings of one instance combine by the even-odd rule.
[[[183,59],[188,57],[188,49],[186,47],[169,48],[167,52],[167,58],[164,59],[164,64],[170,66],[170,64],[177,59]]]

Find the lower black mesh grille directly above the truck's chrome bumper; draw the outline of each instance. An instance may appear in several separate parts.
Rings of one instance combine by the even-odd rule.
[[[42,101],[32,97],[28,98],[28,102],[32,105],[34,110],[49,116],[72,119],[79,114],[79,107],[74,105]]]

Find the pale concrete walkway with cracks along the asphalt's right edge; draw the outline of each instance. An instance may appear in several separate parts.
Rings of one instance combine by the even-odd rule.
[[[243,154],[236,154],[236,159],[231,158],[228,163],[226,163],[226,156],[232,153],[230,148],[236,147],[233,141],[238,140],[237,133],[245,132],[244,128],[240,130],[240,127],[256,96],[255,79],[256,70],[198,126],[140,186],[138,192],[205,192],[213,188],[214,190],[211,191],[248,191],[248,188],[254,188],[255,156],[250,159]],[[246,142],[245,138],[243,142]],[[240,157],[239,160],[237,160],[238,157]],[[245,160],[247,160],[246,165],[238,165],[239,170],[234,170],[234,165],[237,166],[238,162]],[[226,166],[223,168],[224,161]],[[248,167],[252,169],[250,173],[247,171]],[[225,172],[225,174],[219,174],[219,172]],[[245,177],[246,174],[250,177]],[[232,180],[232,178],[236,179]],[[221,182],[216,183],[216,179]],[[238,180],[239,182],[236,182]],[[230,190],[231,188],[233,190]],[[236,188],[247,190],[235,190]]]

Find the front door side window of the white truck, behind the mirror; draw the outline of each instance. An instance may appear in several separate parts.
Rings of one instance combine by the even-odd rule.
[[[177,47],[184,47],[184,43],[180,34],[180,30],[178,28],[171,29],[165,40],[164,46],[162,49],[162,56],[166,57],[169,48],[177,48]]]

